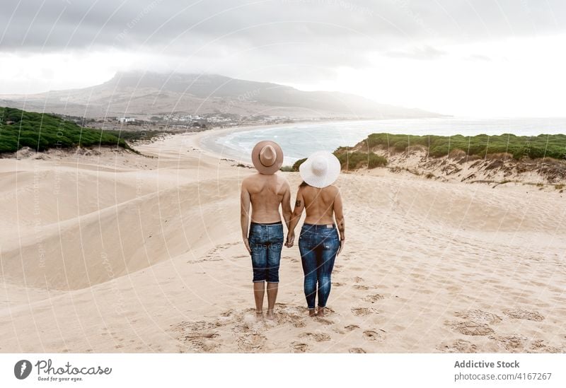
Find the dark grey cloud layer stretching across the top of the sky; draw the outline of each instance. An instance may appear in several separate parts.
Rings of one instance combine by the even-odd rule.
[[[562,0],[4,0],[0,51],[482,40],[565,30]]]

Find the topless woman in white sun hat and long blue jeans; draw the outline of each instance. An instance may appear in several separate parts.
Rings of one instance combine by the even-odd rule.
[[[340,174],[340,162],[332,153],[320,151],[301,164],[299,172],[304,182],[296,194],[286,245],[293,246],[296,224],[303,209],[306,209],[305,223],[299,236],[306,303],[311,317],[323,317],[330,294],[334,260],[342,252],[345,240],[342,197],[333,185]],[[318,312],[315,312],[317,291]]]

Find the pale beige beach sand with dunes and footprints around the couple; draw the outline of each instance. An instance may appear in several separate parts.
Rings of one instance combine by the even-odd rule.
[[[0,352],[565,351],[566,194],[342,174],[330,312],[307,316],[295,246],[277,319],[256,322],[253,170],[200,136],[0,159]]]

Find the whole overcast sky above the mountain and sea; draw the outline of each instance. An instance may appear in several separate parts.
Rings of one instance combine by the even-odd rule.
[[[206,72],[463,117],[566,117],[564,0],[2,0],[0,93]]]

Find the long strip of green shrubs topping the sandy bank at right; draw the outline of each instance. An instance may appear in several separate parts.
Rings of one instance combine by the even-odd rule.
[[[395,135],[371,134],[364,141],[370,149],[376,146],[405,151],[409,146],[422,146],[432,157],[446,156],[451,151],[461,150],[467,155],[484,158],[492,153],[510,153],[519,160],[529,158],[566,158],[566,135],[516,136],[476,135],[476,136],[434,136],[434,135]]]

